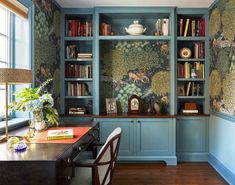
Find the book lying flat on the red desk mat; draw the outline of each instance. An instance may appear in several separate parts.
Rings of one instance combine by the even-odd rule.
[[[71,139],[73,138],[73,129],[48,130],[47,140],[53,139]]]

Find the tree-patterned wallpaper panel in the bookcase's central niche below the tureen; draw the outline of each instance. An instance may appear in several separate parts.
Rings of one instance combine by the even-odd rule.
[[[169,44],[163,41],[103,41],[101,43],[101,107],[116,98],[118,112],[128,111],[128,98],[141,98],[142,112],[160,103],[169,113]]]

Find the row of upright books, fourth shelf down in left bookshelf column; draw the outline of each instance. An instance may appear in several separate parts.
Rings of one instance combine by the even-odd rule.
[[[67,82],[65,87],[66,96],[90,96],[89,87],[86,83]]]

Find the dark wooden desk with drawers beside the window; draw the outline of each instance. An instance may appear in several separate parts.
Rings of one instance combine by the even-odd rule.
[[[91,129],[75,143],[32,143],[20,153],[1,143],[0,185],[68,185],[73,178],[72,160],[98,138],[96,122],[83,125]],[[26,130],[10,134],[23,135]]]

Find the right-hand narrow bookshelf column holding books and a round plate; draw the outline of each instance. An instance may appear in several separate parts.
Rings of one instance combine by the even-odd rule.
[[[177,11],[177,112],[207,113],[207,13],[199,9]],[[191,105],[186,106],[186,105]]]

